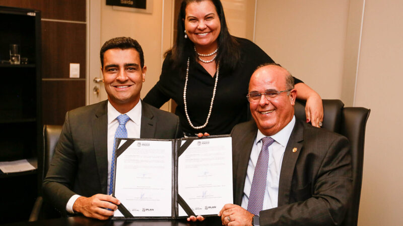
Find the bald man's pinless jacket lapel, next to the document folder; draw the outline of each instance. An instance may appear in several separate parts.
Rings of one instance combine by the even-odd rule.
[[[233,158],[237,160],[234,163],[234,178],[235,184],[233,185],[235,188],[235,204],[241,204],[243,197],[243,188],[245,186],[245,178],[246,171],[248,169],[248,163],[250,159],[250,152],[252,151],[253,142],[256,138],[257,127],[256,124],[251,121],[247,124],[247,128],[242,130],[241,136],[235,136],[235,142],[233,142],[234,146],[233,150],[235,150]],[[239,138],[239,139],[238,139]]]

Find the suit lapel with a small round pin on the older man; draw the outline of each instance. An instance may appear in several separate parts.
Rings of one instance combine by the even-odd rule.
[[[278,206],[289,203],[294,168],[299,153],[302,150],[303,140],[304,128],[303,125],[301,125],[301,122],[297,120],[295,122],[293,132],[291,133],[290,140],[288,141],[286,150],[284,152],[283,163],[280,172]],[[295,152],[293,152],[293,150]]]

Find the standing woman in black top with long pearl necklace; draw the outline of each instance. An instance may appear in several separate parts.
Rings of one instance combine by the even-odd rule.
[[[186,136],[229,134],[251,119],[246,94],[253,71],[274,61],[251,41],[229,34],[219,0],[184,0],[177,31],[160,80],[144,101],[161,107],[175,100]],[[323,120],[320,96],[299,79],[295,88],[298,98],[307,101],[307,122],[318,126]]]

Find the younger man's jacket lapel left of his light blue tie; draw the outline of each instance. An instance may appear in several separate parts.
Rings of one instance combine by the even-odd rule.
[[[101,102],[95,112],[95,119],[92,122],[92,134],[94,141],[94,152],[97,160],[98,175],[100,178],[100,190],[106,194],[108,180],[108,114],[107,101]]]

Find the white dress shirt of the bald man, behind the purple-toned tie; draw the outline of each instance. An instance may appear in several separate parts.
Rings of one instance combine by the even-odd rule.
[[[293,117],[291,122],[287,124],[286,127],[284,127],[277,134],[271,136],[271,138],[273,138],[275,142],[268,147],[269,157],[267,166],[267,180],[266,180],[266,188],[264,190],[262,210],[275,208],[278,205],[281,165],[283,163],[284,152],[286,150],[288,140],[290,139],[291,132],[294,129],[294,125],[295,125],[295,116]],[[253,174],[255,172],[255,166],[260,154],[262,146],[261,139],[263,137],[265,136],[259,130],[257,130],[257,135],[252,146],[252,151],[250,153],[248,169],[246,171],[245,186],[243,188],[243,197],[241,206],[244,209],[247,209],[248,207],[249,194],[253,181]]]

